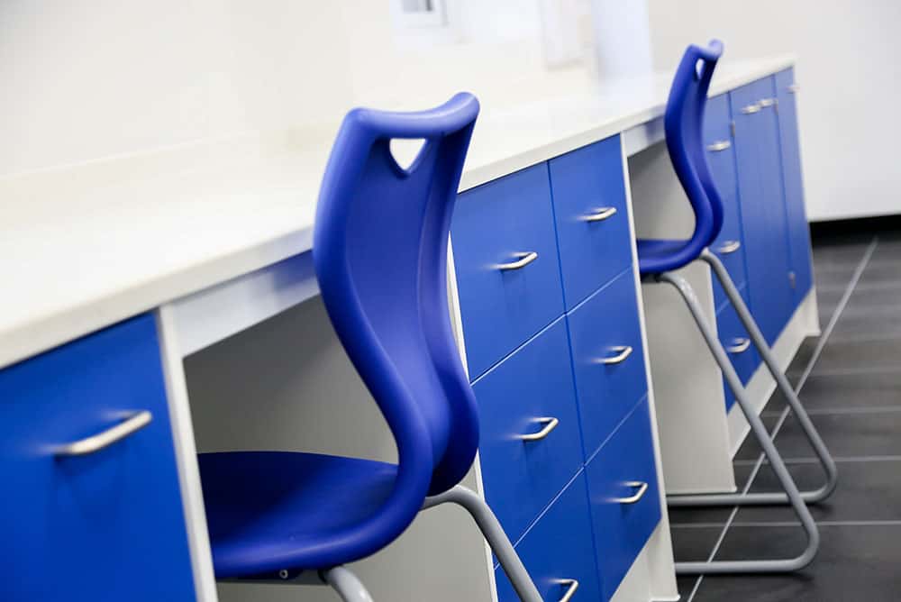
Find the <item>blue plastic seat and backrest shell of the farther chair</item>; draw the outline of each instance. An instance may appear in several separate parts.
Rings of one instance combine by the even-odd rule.
[[[660,274],[696,260],[713,242],[723,224],[723,203],[707,165],[702,130],[707,90],[723,44],[711,41],[706,48],[691,45],[682,56],[669,90],[663,125],[667,149],[676,176],[695,213],[691,238],[662,251],[639,245],[638,265],[642,274]]]

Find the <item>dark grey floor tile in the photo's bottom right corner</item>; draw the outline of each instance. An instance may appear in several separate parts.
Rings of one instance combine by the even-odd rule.
[[[894,602],[901,599],[901,526],[826,526],[820,553],[788,575],[705,577],[694,602]],[[718,559],[787,557],[801,552],[796,527],[729,530]]]

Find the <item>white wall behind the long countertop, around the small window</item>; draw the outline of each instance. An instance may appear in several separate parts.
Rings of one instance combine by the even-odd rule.
[[[544,68],[537,0],[0,0],[0,177],[487,93]],[[480,94],[480,96],[483,96]]]

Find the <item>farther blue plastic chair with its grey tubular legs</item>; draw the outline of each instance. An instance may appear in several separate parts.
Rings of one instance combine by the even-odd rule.
[[[786,560],[759,561],[706,561],[678,562],[676,570],[680,574],[740,573],[740,572],[785,572],[805,567],[813,560],[819,546],[819,533],[805,502],[816,502],[828,497],[835,487],[835,463],[825,444],[816,432],[805,409],[797,399],[794,389],[778,367],[778,361],[770,351],[760,333],[751,312],[735,287],[729,272],[721,260],[709,251],[708,246],[720,233],[723,226],[724,205],[716,189],[714,178],[707,164],[703,143],[704,112],[707,91],[714,74],[716,62],[723,53],[720,41],[711,41],[706,48],[689,46],[680,61],[676,76],[669,92],[664,129],[667,149],[679,182],[684,188],[695,214],[695,231],[687,241],[640,240],[637,242],[639,269],[645,281],[666,282],[676,287],[686,302],[692,317],[704,336],[705,342],[714,354],[714,359],[723,370],[724,378],[732,388],[736,402],[751,424],[755,435],[770,465],[776,472],[785,493],[735,493],[669,496],[669,506],[751,506],[790,503],[801,519],[807,533],[807,547],[799,556]],[[824,465],[826,484],[815,491],[800,492],[788,473],[784,461],[778,454],[766,427],[760,422],[750,399],[742,387],[742,381],[733,369],[726,351],[716,336],[703,309],[698,304],[692,287],[685,278],[673,274],[694,260],[703,260],[710,265],[714,275],[723,285],[726,296],[747,329],[760,356],[776,379],[778,387],[792,407],[799,423],[804,428],[808,440]]]

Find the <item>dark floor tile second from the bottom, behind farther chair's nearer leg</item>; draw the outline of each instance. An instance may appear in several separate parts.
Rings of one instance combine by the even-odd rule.
[[[890,461],[840,461],[838,470],[839,481],[833,494],[810,506],[817,522],[901,522],[901,457]],[[825,480],[819,463],[789,463],[788,471],[802,490],[819,488]],[[751,491],[780,489],[769,464],[761,466]],[[795,520],[795,511],[788,506],[746,506],[735,515],[737,524]]]

